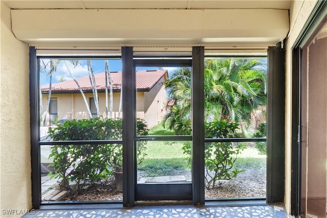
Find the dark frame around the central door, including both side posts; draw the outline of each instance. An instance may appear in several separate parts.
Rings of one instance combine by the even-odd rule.
[[[127,169],[123,172],[123,206],[134,206],[135,201],[141,200],[192,200],[194,205],[204,204],[204,47],[193,47],[192,59],[171,58],[134,59],[133,48],[122,47],[124,72],[122,91],[125,93],[123,94],[123,114],[127,114],[123,119],[123,150],[125,151],[123,168]],[[192,158],[192,183],[137,184],[136,140],[139,139],[136,136],[135,74],[137,66],[192,67],[192,129],[197,131],[192,131],[192,136],[161,138],[161,140],[192,141],[192,154],[197,154]],[[132,125],[130,120],[133,120]]]

